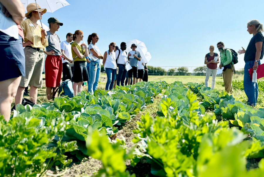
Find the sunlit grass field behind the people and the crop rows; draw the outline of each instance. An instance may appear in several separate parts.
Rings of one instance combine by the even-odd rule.
[[[101,77],[106,77],[106,74],[103,73],[101,74]],[[43,78],[45,78],[45,74],[43,74]],[[233,81],[242,81],[243,80],[243,75],[237,75],[234,74],[233,76]],[[205,76],[149,76],[148,81],[166,81],[167,83],[172,83],[174,81],[181,81],[183,84],[187,84],[188,82],[197,82],[199,84],[203,83],[205,81]],[[264,79],[259,79],[258,81],[264,81]],[[208,86],[211,87],[211,77],[209,78],[208,81]],[[216,77],[216,85],[215,88],[218,90],[224,90],[223,85],[223,77]],[[45,81],[43,81],[43,88],[38,89],[38,103],[44,103],[44,102],[49,102],[48,99],[46,98],[46,87],[45,86]],[[87,86],[83,88],[83,90],[87,91]],[[105,89],[105,82],[100,82],[98,84],[98,89]],[[263,108],[264,107],[264,92],[259,91],[259,98],[258,98],[258,105],[256,108]],[[241,91],[239,89],[234,89],[233,90],[233,96],[243,102],[247,102],[247,96],[245,95],[244,91]],[[25,96],[25,98],[29,98],[29,96]]]

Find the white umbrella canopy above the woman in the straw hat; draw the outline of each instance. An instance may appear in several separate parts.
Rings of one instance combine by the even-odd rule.
[[[65,0],[37,0],[37,1],[35,1],[35,0],[20,0],[20,1],[22,2],[25,9],[27,9],[28,4],[37,2],[37,4],[39,6],[41,6],[41,8],[43,8],[43,9],[45,8],[45,9],[47,9],[47,12],[51,12],[51,13],[53,13],[54,11],[56,11],[62,7],[70,5]]]

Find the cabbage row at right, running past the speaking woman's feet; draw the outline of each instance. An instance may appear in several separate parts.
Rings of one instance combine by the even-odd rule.
[[[189,88],[197,88],[199,94],[204,98],[203,105],[206,109],[214,109],[217,116],[222,116],[233,125],[240,126],[241,131],[250,134],[254,142],[255,153],[250,156],[254,158],[264,157],[264,109],[253,109],[240,101],[235,101],[227,92],[219,92],[209,89],[200,84],[190,84]]]

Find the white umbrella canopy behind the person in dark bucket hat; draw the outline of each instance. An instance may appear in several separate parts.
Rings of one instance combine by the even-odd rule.
[[[127,53],[132,51],[132,49],[131,49],[131,45],[132,44],[136,44],[137,45],[137,49],[136,50],[139,51],[139,53],[140,53],[140,55],[142,57],[142,60],[144,61],[144,63],[148,63],[149,60],[151,59],[151,55],[147,51],[147,47],[146,47],[145,43],[142,42],[142,41],[139,41],[137,39],[134,39],[132,41],[128,41],[127,42],[127,49],[126,49]]]

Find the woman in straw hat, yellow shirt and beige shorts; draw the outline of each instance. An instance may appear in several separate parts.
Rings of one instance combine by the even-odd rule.
[[[39,14],[38,14],[39,11]],[[48,46],[46,39],[47,32],[41,29],[37,21],[46,13],[46,9],[41,9],[36,3],[28,4],[27,19],[21,23],[25,42],[23,43],[26,58],[26,76],[21,78],[19,88],[15,97],[15,105],[21,104],[25,88],[30,84],[29,96],[34,103],[37,102],[38,87],[42,87],[42,71],[44,65],[44,49]],[[48,54],[54,54],[54,51]]]

